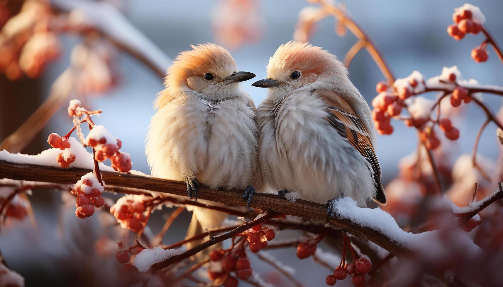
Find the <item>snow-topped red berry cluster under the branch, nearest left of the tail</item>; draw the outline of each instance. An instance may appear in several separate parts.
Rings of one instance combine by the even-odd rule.
[[[146,203],[144,196],[126,195],[110,208],[110,213],[115,216],[122,228],[138,233],[147,220]]]

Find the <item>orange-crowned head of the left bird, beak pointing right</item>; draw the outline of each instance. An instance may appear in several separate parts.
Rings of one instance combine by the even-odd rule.
[[[237,70],[236,61],[229,51],[216,44],[191,45],[192,50],[182,52],[167,70],[166,87],[192,90],[209,101],[235,95],[238,82],[255,77],[250,72]]]

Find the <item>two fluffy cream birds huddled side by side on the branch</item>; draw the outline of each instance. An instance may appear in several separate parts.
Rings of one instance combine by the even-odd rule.
[[[280,196],[298,191],[317,203],[347,196],[362,207],[372,198],[386,203],[370,109],[334,55],[306,43],[281,45],[268,78],[253,84],[269,88],[256,109],[238,84],[255,74],[237,71],[218,45],[192,48],[167,70],[155,101],[146,144],[153,176],[187,182],[191,199],[200,183],[245,190],[247,200],[255,186]],[[187,237],[225,217],[195,207]]]

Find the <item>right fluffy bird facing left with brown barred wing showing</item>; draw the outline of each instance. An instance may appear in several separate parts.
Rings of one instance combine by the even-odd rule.
[[[369,106],[336,56],[307,43],[281,45],[267,65],[269,88],[257,109],[259,162],[270,188],[330,204],[386,204]]]

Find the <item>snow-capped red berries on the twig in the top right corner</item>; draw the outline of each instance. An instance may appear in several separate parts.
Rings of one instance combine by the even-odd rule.
[[[466,34],[478,34],[482,31],[482,24],[485,19],[478,7],[465,4],[455,10],[452,15],[452,20],[454,24],[447,27],[447,33],[456,40],[461,40]],[[475,62],[485,62],[487,61],[487,42],[483,42],[480,46],[473,48],[471,51],[471,57]]]

